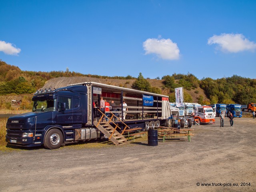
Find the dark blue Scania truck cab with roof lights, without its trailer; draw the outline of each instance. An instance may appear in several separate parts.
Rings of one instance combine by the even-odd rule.
[[[86,86],[36,92],[32,112],[10,117],[6,142],[16,146],[59,148],[74,140],[74,128],[87,123]],[[96,138],[98,135],[96,136]]]

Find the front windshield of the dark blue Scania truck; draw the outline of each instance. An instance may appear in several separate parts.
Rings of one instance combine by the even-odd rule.
[[[34,101],[33,112],[36,111],[55,111],[56,99]]]

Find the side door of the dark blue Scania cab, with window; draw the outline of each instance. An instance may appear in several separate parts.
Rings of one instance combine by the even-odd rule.
[[[61,104],[66,104],[65,110],[61,109]],[[73,109],[72,109],[72,97],[71,96],[58,96],[57,103],[57,124],[68,125],[73,124]]]

